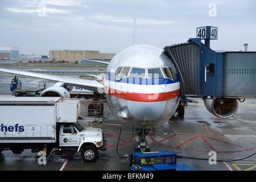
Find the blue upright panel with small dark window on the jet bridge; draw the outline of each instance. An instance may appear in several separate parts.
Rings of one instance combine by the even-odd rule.
[[[216,53],[201,55],[200,90],[202,96],[216,96]]]

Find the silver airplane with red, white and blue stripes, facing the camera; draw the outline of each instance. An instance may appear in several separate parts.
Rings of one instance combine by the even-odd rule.
[[[91,60],[94,61],[94,60]],[[150,151],[146,135],[174,115],[180,99],[179,75],[167,54],[147,44],[136,44],[117,53],[104,76],[94,80],[53,76],[0,68],[1,72],[57,81],[43,96],[70,97],[65,85],[93,91],[94,100],[105,94],[106,101],[119,121],[135,129],[139,145],[135,151]]]

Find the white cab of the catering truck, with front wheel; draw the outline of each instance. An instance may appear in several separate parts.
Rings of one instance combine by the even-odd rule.
[[[63,123],[59,133],[60,154],[81,152],[84,162],[93,162],[98,150],[106,150],[106,140],[101,129],[82,127],[79,123]]]

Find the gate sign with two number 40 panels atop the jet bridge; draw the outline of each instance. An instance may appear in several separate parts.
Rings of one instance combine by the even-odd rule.
[[[200,39],[218,39],[217,27],[198,27],[196,28],[196,38]]]

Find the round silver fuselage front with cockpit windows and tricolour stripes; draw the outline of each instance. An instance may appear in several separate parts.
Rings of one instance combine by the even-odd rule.
[[[150,129],[163,125],[175,113],[179,76],[162,50],[139,44],[124,49],[110,61],[105,93],[110,109],[122,123]]]

